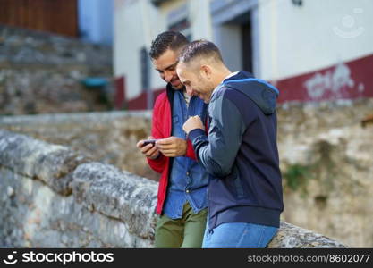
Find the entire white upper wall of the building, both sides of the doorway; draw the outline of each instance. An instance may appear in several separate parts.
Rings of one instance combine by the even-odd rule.
[[[234,30],[220,29],[232,37],[220,40],[214,29],[213,37],[210,0],[169,1],[158,9],[149,0],[114,1],[114,74],[125,75],[129,99],[141,93],[140,48],[149,49],[151,40],[167,29],[167,20],[177,9],[187,9],[192,39],[241,46],[233,41]],[[302,6],[293,5],[291,0],[258,1],[254,68],[262,79],[289,78],[373,54],[371,0],[303,0]],[[240,59],[230,57],[225,61],[231,67],[240,63]],[[157,71],[150,72],[150,80],[150,88],[165,87]]]

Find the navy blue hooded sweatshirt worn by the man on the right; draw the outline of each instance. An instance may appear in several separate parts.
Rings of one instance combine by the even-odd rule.
[[[208,136],[189,138],[208,181],[208,229],[224,222],[279,227],[284,210],[276,144],[277,88],[248,72],[225,79],[208,105]]]

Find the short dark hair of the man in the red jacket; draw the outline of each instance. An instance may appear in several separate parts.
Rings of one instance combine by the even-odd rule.
[[[182,49],[182,47],[188,43],[188,39],[185,38],[180,32],[165,31],[160,33],[151,43],[149,56],[152,59],[157,59],[164,54],[167,49],[177,51]]]

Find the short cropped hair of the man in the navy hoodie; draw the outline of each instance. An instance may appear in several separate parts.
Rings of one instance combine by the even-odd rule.
[[[210,57],[216,61],[223,63],[222,54],[219,48],[208,40],[196,40],[184,46],[179,55],[179,61],[182,63],[189,63],[192,59],[197,57]]]

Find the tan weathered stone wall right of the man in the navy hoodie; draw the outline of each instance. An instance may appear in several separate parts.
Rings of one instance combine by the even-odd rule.
[[[282,106],[278,147],[283,219],[373,247],[373,99]]]

